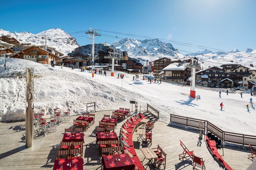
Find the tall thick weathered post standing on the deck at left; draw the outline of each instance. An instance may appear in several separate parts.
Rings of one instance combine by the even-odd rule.
[[[31,148],[34,137],[34,68],[26,68],[26,73],[26,148]]]

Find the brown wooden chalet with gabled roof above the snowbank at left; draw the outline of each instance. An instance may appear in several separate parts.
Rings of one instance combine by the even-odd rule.
[[[31,60],[37,63],[44,63],[44,64],[51,64],[51,60],[56,61],[56,59],[58,58],[58,56],[48,51],[42,50],[41,48],[35,45],[29,46],[26,49],[22,50],[21,52],[18,52],[10,57]]]

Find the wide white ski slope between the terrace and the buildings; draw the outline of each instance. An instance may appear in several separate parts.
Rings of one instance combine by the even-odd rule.
[[[25,119],[25,79],[18,75],[25,74],[25,67],[35,69],[35,108],[45,108],[52,114],[53,108],[71,108],[71,114],[81,113],[86,103],[96,102],[97,110],[131,108],[130,100],[138,101],[143,108],[146,103],[160,111],[160,120],[168,123],[169,113],[209,120],[222,130],[256,135],[256,111],[250,106],[246,111],[250,94],[226,95],[220,89],[198,89],[201,100],[189,98],[190,87],[162,82],[150,84],[140,77],[132,81],[134,75],[124,72],[124,79],[80,72],[80,69],[51,67],[32,61],[7,58],[7,70],[0,58],[0,117],[2,121]],[[12,65],[9,67],[9,65]],[[115,75],[117,72],[115,72]],[[11,78],[9,78],[11,77]],[[253,97],[253,101],[256,98]],[[225,105],[220,111],[220,103]]]

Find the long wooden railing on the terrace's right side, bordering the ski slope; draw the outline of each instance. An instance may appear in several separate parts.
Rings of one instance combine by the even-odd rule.
[[[251,145],[256,145],[256,136],[226,132],[221,130],[214,124],[208,122],[207,120],[170,114],[170,123],[176,123],[184,125],[186,127],[193,127],[198,129],[200,128],[200,126],[202,126],[203,123],[202,129],[205,129],[206,133],[211,132],[218,136],[218,138],[220,138],[222,141],[242,144],[243,146],[248,145],[249,143]]]

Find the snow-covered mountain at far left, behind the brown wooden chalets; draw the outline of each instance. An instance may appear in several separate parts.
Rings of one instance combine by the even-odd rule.
[[[68,54],[79,44],[76,39],[61,29],[50,29],[38,34],[29,32],[11,33],[0,29],[0,36],[6,35],[17,39],[20,43],[31,43],[33,45],[45,45],[45,36],[47,37],[47,46],[55,47],[56,50]]]

